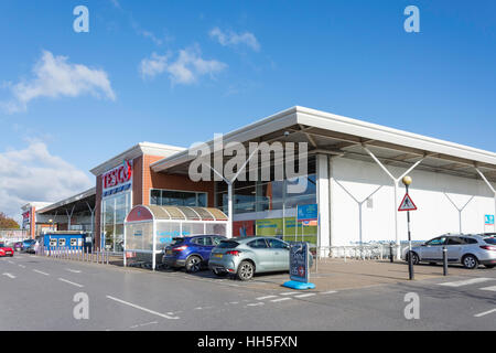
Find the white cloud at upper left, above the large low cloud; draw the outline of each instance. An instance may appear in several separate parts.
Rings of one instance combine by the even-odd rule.
[[[116,99],[105,71],[71,64],[66,56],[54,56],[47,51],[43,51],[41,60],[34,65],[33,75],[30,81],[9,84],[13,99],[2,103],[7,111],[26,110],[28,104],[39,97],[77,97],[89,94]]]

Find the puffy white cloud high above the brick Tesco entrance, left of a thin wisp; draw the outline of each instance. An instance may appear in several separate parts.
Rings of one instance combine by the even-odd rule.
[[[173,62],[169,62],[170,54],[158,55],[153,53],[151,58],[143,58],[140,63],[142,77],[154,77],[168,73],[173,84],[190,85],[197,82],[200,76],[215,74],[224,71],[227,65],[216,60],[204,60],[197,45],[180,50]]]

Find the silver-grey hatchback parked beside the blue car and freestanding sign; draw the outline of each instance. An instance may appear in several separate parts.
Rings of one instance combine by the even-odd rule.
[[[238,237],[212,250],[208,268],[217,276],[236,275],[249,280],[255,274],[289,271],[290,244],[274,237]],[[313,259],[309,253],[312,266]]]

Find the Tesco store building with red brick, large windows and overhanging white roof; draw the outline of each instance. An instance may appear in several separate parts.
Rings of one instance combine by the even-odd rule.
[[[215,131],[213,131],[215,132]],[[228,236],[303,236],[322,248],[407,239],[401,178],[413,179],[412,238],[445,233],[495,232],[496,153],[325,111],[293,107],[223,136],[224,146],[306,143],[308,183],[288,193],[288,178],[194,182],[195,160],[185,148],[142,142],[91,169],[95,245],[121,252],[125,218],[136,205],[218,207],[230,218]],[[215,140],[204,143],[212,147]],[[273,156],[271,163],[282,163]],[[228,156],[222,154],[224,164]],[[248,169],[258,169],[249,164]],[[319,220],[304,227],[296,207],[316,204]],[[493,217],[490,217],[493,216]]]

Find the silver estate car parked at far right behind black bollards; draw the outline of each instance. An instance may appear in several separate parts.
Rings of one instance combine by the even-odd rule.
[[[411,249],[413,265],[419,263],[442,263],[443,247],[448,249],[448,261],[460,263],[465,268],[474,269],[478,265],[487,268],[496,266],[496,238],[484,235],[446,234],[425,242]],[[408,260],[408,248],[402,258]]]

